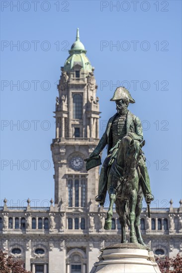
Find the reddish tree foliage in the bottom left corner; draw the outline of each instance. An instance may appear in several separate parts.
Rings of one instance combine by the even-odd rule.
[[[31,273],[23,268],[23,261],[14,260],[12,256],[0,250],[0,273]]]

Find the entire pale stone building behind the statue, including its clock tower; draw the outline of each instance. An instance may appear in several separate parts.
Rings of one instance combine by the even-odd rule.
[[[120,243],[121,237],[115,211],[112,230],[103,229],[107,209],[94,201],[99,167],[87,172],[84,162],[99,140],[100,112],[94,68],[78,32],[61,71],[51,144],[54,201],[49,207],[32,207],[29,199],[26,207],[7,207],[5,199],[0,207],[1,249],[22,259],[32,273],[88,273],[100,249]],[[179,208],[170,204],[151,208],[151,219],[146,208],[141,213],[144,242],[156,256],[182,251],[182,201]]]

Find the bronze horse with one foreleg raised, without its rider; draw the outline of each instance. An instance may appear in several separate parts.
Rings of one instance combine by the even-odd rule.
[[[143,192],[139,183],[140,172],[137,168],[144,144],[145,140],[140,143],[130,134],[123,137],[119,143],[117,158],[108,170],[107,191],[110,204],[104,229],[111,229],[115,203],[121,224],[121,243],[127,242],[125,232],[127,224],[130,227],[130,243],[146,246],[140,232]]]

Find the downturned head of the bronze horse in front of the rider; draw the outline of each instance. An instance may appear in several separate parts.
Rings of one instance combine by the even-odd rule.
[[[134,140],[131,135],[126,135],[122,138],[120,145],[121,152],[124,159],[124,167],[126,170],[127,178],[133,178],[138,161],[141,159],[141,147],[145,144],[143,141],[140,143],[138,140]]]

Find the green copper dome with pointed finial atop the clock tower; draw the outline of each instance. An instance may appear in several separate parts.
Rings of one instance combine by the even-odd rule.
[[[77,28],[76,41],[73,43],[71,49],[69,50],[70,56],[67,58],[64,64],[64,71],[70,71],[75,65],[82,66],[81,69],[91,72],[91,63],[86,56],[87,50],[85,49],[83,43],[80,41],[79,28]]]

